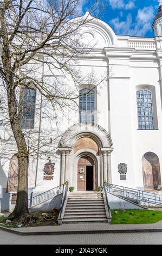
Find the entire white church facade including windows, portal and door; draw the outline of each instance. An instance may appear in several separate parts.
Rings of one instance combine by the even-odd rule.
[[[38,149],[34,158],[29,159],[29,190],[38,194],[69,181],[74,191],[93,191],[104,182],[160,191],[162,7],[153,22],[154,38],[116,35],[107,23],[90,16],[83,29],[86,40],[92,42],[94,48],[90,56],[78,60],[79,68],[85,76],[93,70],[99,81],[108,74],[107,80],[89,93],[87,85],[82,85],[79,107],[67,108],[66,118],[60,113],[57,125],[62,135],[57,142],[53,139],[56,124],[51,108],[48,110],[46,106],[50,120],[43,118],[43,111],[41,115],[31,115],[29,128],[39,130],[37,143],[41,132],[48,130],[50,124],[47,140],[51,140],[50,161],[55,164],[53,173],[44,173],[48,160],[37,156]],[[46,68],[42,72],[48,76]],[[67,83],[70,86],[70,80],[67,79]],[[35,88],[24,94],[28,101],[31,94],[33,104],[41,102]],[[40,103],[40,111],[41,106]],[[2,121],[0,133],[1,138],[7,139],[4,123]],[[15,147],[14,141],[12,147]],[[1,154],[1,211],[14,207],[16,183],[11,184],[11,179],[16,178],[11,174],[12,169],[18,172],[17,159],[12,150],[8,150],[7,157]]]

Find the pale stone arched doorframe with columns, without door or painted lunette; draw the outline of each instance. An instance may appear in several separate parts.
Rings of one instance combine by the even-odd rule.
[[[77,139],[82,137],[93,138],[98,144],[99,151],[93,149],[80,149],[75,154],[73,147]],[[111,137],[99,125],[81,123],[74,125],[64,133],[57,154],[61,155],[60,160],[60,183],[69,181],[69,186],[74,186],[77,191],[77,162],[82,156],[90,156],[95,163],[95,183],[102,186],[104,181],[112,182],[111,174],[111,153],[113,151]],[[69,146],[69,147],[68,147]]]

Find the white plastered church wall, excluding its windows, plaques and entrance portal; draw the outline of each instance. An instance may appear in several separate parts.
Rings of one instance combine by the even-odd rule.
[[[85,32],[87,33],[88,25],[86,26]],[[89,32],[92,32],[90,40],[94,36],[94,42],[97,41],[95,50],[89,56],[87,54],[84,58],[78,59],[75,68],[82,71],[83,77],[87,77],[93,71],[99,83],[110,71],[108,74],[109,80],[100,83],[97,88],[97,123],[109,133],[113,141],[112,182],[121,186],[142,187],[142,156],[147,151],[152,151],[158,155],[160,164],[162,163],[162,96],[160,90],[162,56],[160,55],[161,50],[156,50],[156,47],[162,45],[161,39],[158,37],[149,39],[115,36],[111,28],[105,22],[99,20],[94,20],[90,23]],[[100,35],[102,35],[101,41],[98,40]],[[43,67],[40,65],[38,72],[40,72],[41,76],[42,70]],[[44,79],[49,78],[49,80],[53,80],[47,66],[44,66],[43,75]],[[58,72],[56,75],[59,77]],[[77,93],[78,88],[75,88],[72,78],[67,74],[60,76],[59,79],[65,82],[64,90],[72,88]],[[135,87],[141,84],[155,86],[159,130],[138,130]],[[50,141],[50,138],[53,139],[52,144],[47,148],[46,155],[42,154],[40,159],[38,159],[38,165],[37,152],[34,159],[30,159],[29,162],[29,186],[34,187],[35,185],[37,169],[37,188],[35,192],[38,193],[60,184],[60,156],[56,154],[57,145],[63,132],[73,124],[78,123],[79,113],[77,106],[73,109],[66,107],[54,112],[50,103],[43,101],[40,127],[41,95],[37,93],[36,96],[37,115],[35,115],[35,129],[33,132],[36,131],[37,133],[32,139],[35,141],[35,145],[37,145],[39,128],[41,128],[41,139],[44,139],[44,141]],[[8,140],[8,138],[12,137],[12,132],[7,126],[0,127],[0,129],[3,138]],[[16,152],[16,145],[13,141],[12,147],[11,145],[5,145],[3,149],[5,152],[8,152],[6,157],[3,155],[1,144],[0,185],[5,189],[7,186],[9,160],[14,152]],[[41,153],[41,150],[39,153]],[[48,153],[51,156],[51,162],[55,162],[54,180],[44,181],[43,168],[44,164],[47,163]],[[120,174],[118,173],[119,163],[127,164],[126,181],[120,180]]]

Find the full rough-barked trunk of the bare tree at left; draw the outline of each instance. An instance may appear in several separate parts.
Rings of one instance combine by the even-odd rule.
[[[20,218],[28,212],[28,159],[29,153],[27,144],[25,142],[24,134],[22,132],[19,117],[17,99],[15,94],[14,72],[11,66],[10,41],[8,40],[8,33],[5,25],[4,11],[0,12],[1,26],[3,27],[3,48],[2,48],[2,63],[5,72],[5,82],[7,86],[8,109],[12,132],[14,133],[17,144],[17,158],[18,158],[18,187],[17,200],[12,216]]]

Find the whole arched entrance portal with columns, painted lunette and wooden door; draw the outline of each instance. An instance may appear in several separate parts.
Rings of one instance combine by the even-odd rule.
[[[105,180],[112,183],[111,147],[111,137],[99,125],[79,123],[70,127],[63,134],[57,151],[61,155],[60,184],[69,181],[74,191],[84,191],[95,190]],[[83,170],[79,173],[79,169]]]

